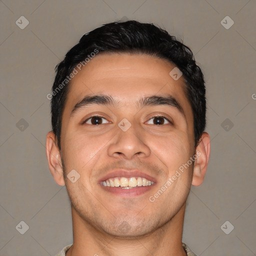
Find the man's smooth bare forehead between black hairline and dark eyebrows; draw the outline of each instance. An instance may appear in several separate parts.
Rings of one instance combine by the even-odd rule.
[[[169,72],[175,67],[165,59],[145,54],[99,53],[71,79],[66,106],[86,94],[118,95],[125,103],[139,95],[171,93],[185,97],[182,76],[174,80]]]

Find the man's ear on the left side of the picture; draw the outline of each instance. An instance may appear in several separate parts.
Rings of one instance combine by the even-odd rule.
[[[61,186],[65,185],[61,156],[57,147],[55,134],[49,131],[46,136],[46,156],[49,170],[55,182]]]

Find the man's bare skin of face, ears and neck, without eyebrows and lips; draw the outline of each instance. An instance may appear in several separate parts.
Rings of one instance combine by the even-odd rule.
[[[52,131],[46,137],[50,172],[59,185],[66,185],[71,202],[73,245],[67,256],[87,255],[186,255],[181,245],[185,202],[192,185],[203,181],[210,153],[204,132],[194,147],[193,114],[184,94],[184,80],[170,77],[175,65],[142,54],[98,54],[76,74],[62,116],[61,152]],[[77,111],[74,105],[88,94],[107,94],[118,105],[91,104]],[[170,94],[183,108],[168,105],[139,107],[143,96]],[[93,125],[92,115],[104,123]],[[154,124],[161,115],[163,124]],[[118,123],[126,118],[131,127]],[[153,202],[168,177],[195,152],[200,156]],[[136,168],[156,179],[144,194],[121,198],[105,191],[98,179],[114,169]],[[63,171],[64,169],[64,171]],[[75,169],[80,178],[66,175]],[[123,221],[128,227],[120,230]]]

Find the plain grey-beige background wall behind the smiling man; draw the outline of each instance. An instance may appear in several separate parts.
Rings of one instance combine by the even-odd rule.
[[[183,241],[202,256],[255,255],[255,14],[255,0],[1,0],[0,255],[54,255],[72,243],[66,189],[45,155],[46,95],[55,65],[81,35],[119,19],[183,39],[205,75],[211,157],[189,194]],[[24,29],[15,24],[25,24],[22,15]],[[227,15],[229,29],[220,22]],[[24,234],[24,225],[15,228],[22,220]],[[230,223],[220,228],[226,220],[229,234],[222,230]]]

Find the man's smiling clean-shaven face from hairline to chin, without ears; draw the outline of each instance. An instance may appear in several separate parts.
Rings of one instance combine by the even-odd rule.
[[[71,80],[61,127],[65,185],[73,210],[97,230],[147,234],[185,203],[193,164],[176,171],[194,154],[193,115],[182,76],[169,75],[174,67],[147,55],[100,54]],[[73,169],[75,182],[66,177]]]

